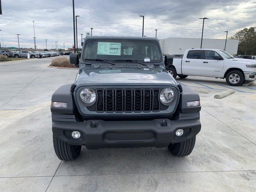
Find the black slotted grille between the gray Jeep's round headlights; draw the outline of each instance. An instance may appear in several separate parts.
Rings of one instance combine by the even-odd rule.
[[[88,110],[96,112],[158,112],[160,89],[97,89],[98,100]]]

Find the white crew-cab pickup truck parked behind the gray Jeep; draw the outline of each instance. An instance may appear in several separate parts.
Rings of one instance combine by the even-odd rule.
[[[256,60],[234,58],[224,50],[187,49],[183,58],[173,58],[166,70],[174,77],[205,76],[226,78],[231,86],[256,80]]]

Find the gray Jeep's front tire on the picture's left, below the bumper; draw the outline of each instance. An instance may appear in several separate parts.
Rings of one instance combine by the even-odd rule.
[[[56,155],[60,160],[75,160],[81,152],[81,146],[70,145],[53,135],[53,146]]]

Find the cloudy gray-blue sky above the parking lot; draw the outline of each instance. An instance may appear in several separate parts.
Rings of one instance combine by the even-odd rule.
[[[35,21],[38,48],[52,48],[58,36],[58,47],[72,47],[72,0],[2,0],[0,35],[4,45],[34,47]],[[202,20],[204,38],[225,38],[224,31],[234,35],[244,27],[256,26],[256,0],[75,0],[78,17],[78,44],[81,33],[93,35],[141,36],[142,18],[145,16],[144,35],[158,38],[201,38]],[[2,44],[2,39],[1,44]]]

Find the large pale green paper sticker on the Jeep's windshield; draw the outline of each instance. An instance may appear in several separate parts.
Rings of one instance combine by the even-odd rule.
[[[121,55],[121,43],[98,42],[98,55]]]

